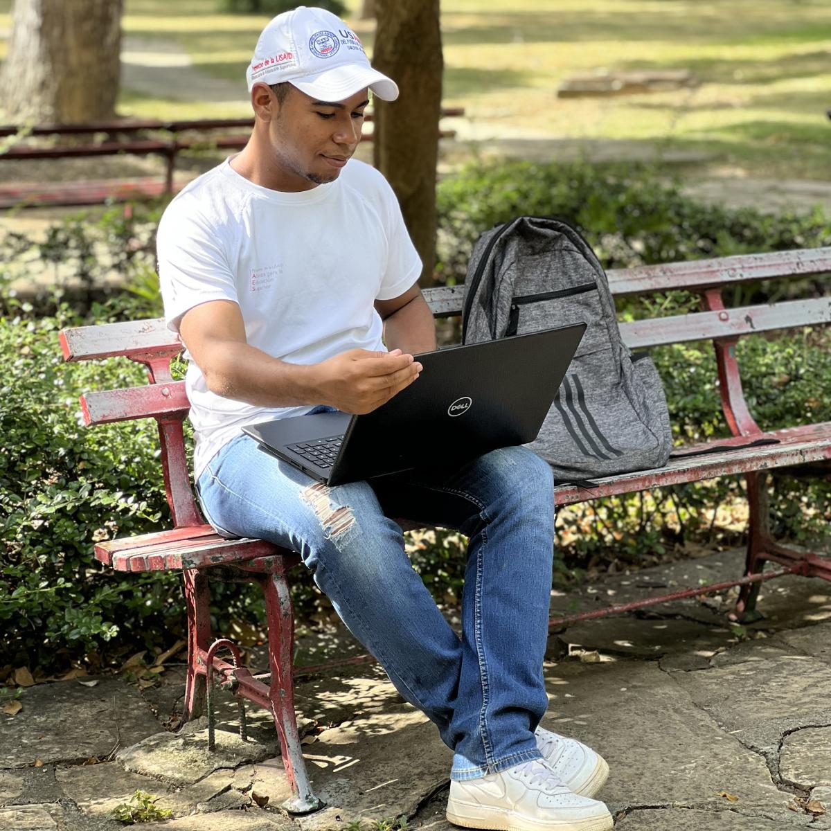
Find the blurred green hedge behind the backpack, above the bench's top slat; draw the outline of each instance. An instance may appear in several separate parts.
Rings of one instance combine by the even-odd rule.
[[[437,273],[464,283],[475,239],[519,214],[577,225],[605,268],[831,244],[831,222],[811,214],[760,214],[687,198],[652,166],[494,161],[442,179]]]

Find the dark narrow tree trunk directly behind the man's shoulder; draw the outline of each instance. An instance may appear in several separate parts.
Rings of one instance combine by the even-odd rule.
[[[439,0],[376,0],[372,64],[399,86],[397,101],[373,99],[375,166],[392,185],[424,268],[434,284],[435,168],[441,115]]]

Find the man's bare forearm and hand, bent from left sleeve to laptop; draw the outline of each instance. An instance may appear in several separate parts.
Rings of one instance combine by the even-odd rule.
[[[370,412],[415,381],[412,355],[352,349],[302,366],[251,347],[243,316],[230,300],[184,313],[179,334],[211,392],[268,407],[327,404],[348,413]]]

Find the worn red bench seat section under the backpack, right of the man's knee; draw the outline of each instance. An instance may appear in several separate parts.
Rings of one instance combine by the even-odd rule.
[[[822,424],[787,427],[759,435],[735,436],[731,439],[706,442],[701,445],[676,448],[679,452],[702,450],[714,445],[744,445],[756,439],[779,439],[778,445],[725,450],[691,458],[671,459],[666,467],[655,470],[637,470],[619,476],[595,479],[599,487],[578,488],[561,485],[555,490],[554,502],[569,505],[599,499],[602,496],[629,494],[637,490],[666,487],[670,484],[698,482],[718,476],[770,470],[788,465],[807,465],[810,462],[831,459],[831,421]]]

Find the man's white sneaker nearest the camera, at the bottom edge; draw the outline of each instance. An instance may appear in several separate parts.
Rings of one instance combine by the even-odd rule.
[[[479,779],[450,780],[447,819],[469,829],[610,831],[602,802],[573,794],[542,760]]]

